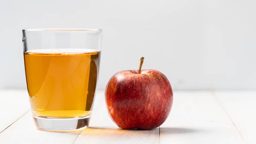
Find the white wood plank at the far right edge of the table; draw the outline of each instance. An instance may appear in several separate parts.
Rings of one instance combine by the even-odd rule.
[[[247,144],[256,144],[256,91],[215,92]]]

